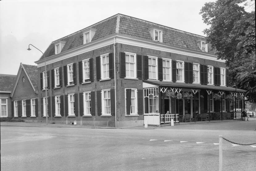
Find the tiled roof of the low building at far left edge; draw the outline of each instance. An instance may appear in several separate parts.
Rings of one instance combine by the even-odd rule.
[[[12,91],[16,76],[0,74],[0,91]]]

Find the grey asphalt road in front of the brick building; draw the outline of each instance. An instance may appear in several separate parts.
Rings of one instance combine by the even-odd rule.
[[[1,171],[219,170],[219,135],[255,143],[255,128],[256,119],[149,130],[1,126]],[[256,147],[223,140],[223,170],[255,168]]]

